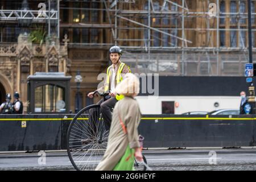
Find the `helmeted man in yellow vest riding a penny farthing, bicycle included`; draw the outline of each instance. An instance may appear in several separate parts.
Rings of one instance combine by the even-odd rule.
[[[104,86],[88,93],[89,98],[95,95],[103,98],[95,105],[90,105],[76,114],[67,134],[67,151],[71,163],[77,170],[94,170],[100,162],[108,140],[112,121],[112,109],[124,98],[114,92],[115,86],[123,80],[126,73],[131,73],[128,65],[120,60],[122,50],[118,46],[109,49],[112,61],[107,69]]]

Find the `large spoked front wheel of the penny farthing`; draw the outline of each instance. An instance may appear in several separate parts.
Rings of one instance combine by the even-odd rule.
[[[80,110],[69,125],[68,156],[76,170],[94,170],[106,150],[108,131],[105,130],[100,105]]]

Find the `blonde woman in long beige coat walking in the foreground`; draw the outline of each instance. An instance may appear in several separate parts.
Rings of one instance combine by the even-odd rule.
[[[134,170],[134,158],[143,160],[138,136],[141,111],[134,98],[139,93],[139,79],[127,73],[115,92],[125,98],[115,104],[108,146],[96,171],[131,171]]]

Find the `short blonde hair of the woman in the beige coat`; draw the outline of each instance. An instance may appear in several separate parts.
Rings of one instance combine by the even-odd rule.
[[[133,73],[126,73],[123,80],[115,88],[115,92],[123,96],[139,94],[139,79]]]

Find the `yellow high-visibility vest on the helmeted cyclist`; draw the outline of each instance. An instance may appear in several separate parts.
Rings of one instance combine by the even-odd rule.
[[[117,84],[123,80],[123,77],[122,77],[121,73],[122,73],[123,67],[125,67],[125,65],[126,65],[125,63],[121,63],[119,65],[119,68],[118,68],[118,71],[117,71]],[[130,67],[128,65],[126,65],[126,66],[128,67],[129,72],[131,73]],[[111,66],[108,67],[108,69],[107,69],[107,80],[106,80],[106,85],[105,85],[105,89],[104,89],[105,93],[109,91],[109,83],[110,83],[110,75],[111,75],[110,74],[110,68],[111,68]],[[118,101],[122,100],[124,97],[125,96],[123,96],[122,94],[115,96],[115,98]]]

